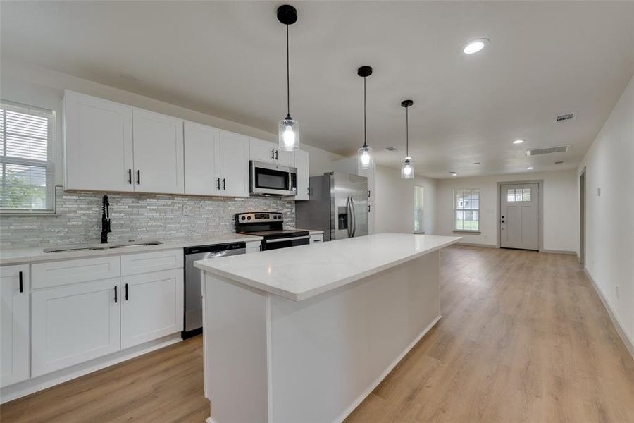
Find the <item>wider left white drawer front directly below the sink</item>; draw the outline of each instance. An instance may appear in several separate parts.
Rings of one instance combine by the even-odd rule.
[[[121,276],[119,256],[36,263],[31,266],[32,289],[51,288]]]

